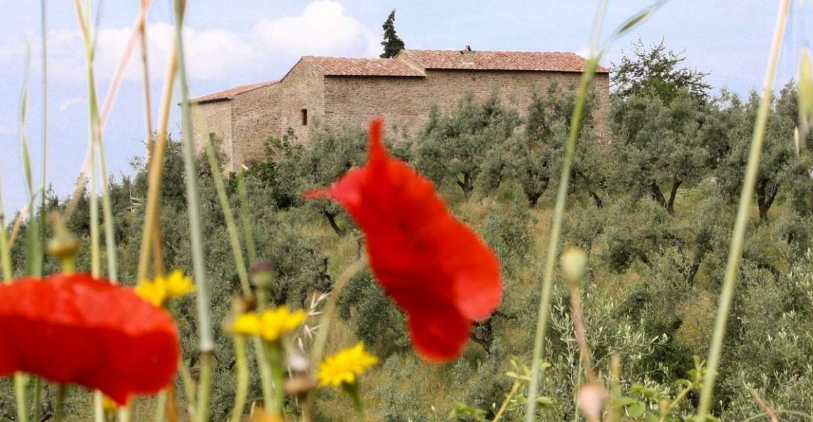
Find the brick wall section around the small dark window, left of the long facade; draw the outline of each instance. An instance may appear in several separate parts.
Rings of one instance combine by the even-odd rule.
[[[289,127],[299,140],[307,141],[311,126],[323,115],[323,80],[311,65],[299,62],[280,83],[234,97],[232,170],[252,160],[263,160],[265,141],[270,136],[282,136]],[[307,110],[307,126],[302,126],[302,110]]]

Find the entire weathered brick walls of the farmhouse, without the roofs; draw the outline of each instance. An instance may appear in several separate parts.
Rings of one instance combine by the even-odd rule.
[[[202,104],[193,109],[194,140],[200,151],[204,136],[215,133],[228,157],[226,171],[265,158],[265,141],[283,136],[288,128],[307,142],[314,127],[366,126],[376,116],[387,127],[414,134],[428,119],[432,105],[453,110],[463,95],[478,99],[494,89],[503,103],[525,114],[533,89],[544,93],[553,80],[575,88],[579,73],[536,71],[427,70],[426,77],[324,76],[307,62],[299,62],[278,84],[238,94],[232,100]],[[596,75],[597,128],[605,133],[609,110],[609,78]],[[302,110],[308,124],[302,125]],[[205,122],[205,124],[204,124]]]

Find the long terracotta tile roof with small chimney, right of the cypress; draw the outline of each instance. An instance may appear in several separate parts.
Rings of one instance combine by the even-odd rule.
[[[471,54],[471,58],[466,58]],[[399,56],[411,58],[427,69],[472,69],[478,71],[573,71],[584,69],[587,60],[562,51],[462,51],[401,50]],[[608,73],[598,67],[598,73]]]

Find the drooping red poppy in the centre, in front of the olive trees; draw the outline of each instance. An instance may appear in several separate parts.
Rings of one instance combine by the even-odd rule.
[[[350,213],[367,239],[372,272],[406,313],[415,349],[428,360],[452,360],[472,321],[499,304],[499,261],[449,213],[432,182],[389,156],[381,126],[370,124],[365,166],[306,196],[337,200]]]

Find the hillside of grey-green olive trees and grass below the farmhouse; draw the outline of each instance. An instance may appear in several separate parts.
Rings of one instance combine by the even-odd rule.
[[[620,355],[623,398],[615,405],[622,420],[657,420],[662,415],[663,420],[680,420],[692,413],[697,400],[702,367],[692,356],[705,355],[711,338],[734,196],[757,99],[741,101],[727,92],[706,99],[691,87],[676,87],[667,101],[648,91],[661,85],[642,86],[613,101],[609,139],[599,136],[593,118],[587,118],[576,144],[563,243],[589,252],[582,297],[587,338],[606,385],[611,356]],[[433,179],[452,212],[498,254],[503,300],[498,312],[472,327],[472,342],[461,359],[430,365],[411,351],[405,318],[372,273],[357,274],[339,299],[340,320],[333,325],[331,345],[360,340],[380,358],[382,364],[362,383],[374,420],[493,420],[503,402],[502,420],[524,418],[527,389],[522,386],[507,401],[506,396],[528,377],[523,360],[533,347],[539,261],[550,220],[546,192],[556,183],[551,176],[561,166],[573,105],[572,90],[560,84],[528,96],[526,113],[502,104],[496,93],[485,98],[470,94],[454,110],[434,110],[414,138],[388,134],[393,155]],[[763,213],[754,213],[747,230],[715,393],[720,400],[715,416],[721,420],[759,413],[750,389],[778,411],[813,406],[813,179],[808,175],[813,166],[810,148],[798,156],[793,148],[795,101],[793,85],[785,87],[768,125],[759,179],[764,180],[765,200],[758,189],[756,201],[758,209],[760,201],[767,205],[766,213],[771,209],[771,219],[760,220]],[[302,200],[302,192],[328,186],[362,165],[366,138],[360,128],[321,129],[303,144],[291,131],[269,140],[267,160],[246,170],[247,215],[259,259],[274,264],[275,304],[318,312],[318,298],[332,289],[341,269],[363,253],[363,239],[343,211],[327,200]],[[211,312],[213,321],[220,322],[231,311],[239,282],[212,174],[207,166],[198,168]],[[110,184],[120,256],[137,256],[140,246],[147,179],[143,161],[134,160],[133,169],[133,176]],[[189,272],[183,171],[180,144],[171,141],[161,192],[163,259],[167,268]],[[233,208],[239,209],[234,178],[226,187]],[[65,206],[52,193],[46,200],[50,208]],[[88,203],[85,194],[68,222],[85,243]],[[20,232],[24,230],[25,221]],[[24,242],[18,239],[12,250],[18,274],[24,256]],[[89,268],[87,248],[80,251],[76,265]],[[122,260],[120,267],[124,283],[133,284],[135,262]],[[58,271],[50,259],[45,269]],[[561,286],[554,288],[539,410],[545,420],[574,419],[573,391],[585,380],[568,295]],[[182,301],[172,312],[179,321],[184,362],[198,377],[193,302]],[[309,329],[315,324],[307,321]],[[303,331],[296,338],[293,347],[307,350],[308,334]],[[215,327],[215,343],[212,417],[222,420],[233,401],[234,356],[220,325]],[[256,373],[254,359],[249,361],[250,372]],[[689,368],[693,372],[687,376]],[[0,404],[7,403],[6,387],[0,387],[5,389],[0,390]],[[253,377],[249,398],[260,395]],[[350,418],[350,404],[341,394],[323,390],[318,398],[320,420]],[[663,400],[677,404],[664,414]],[[288,405],[298,408],[293,402]],[[7,407],[0,406],[0,415]]]

